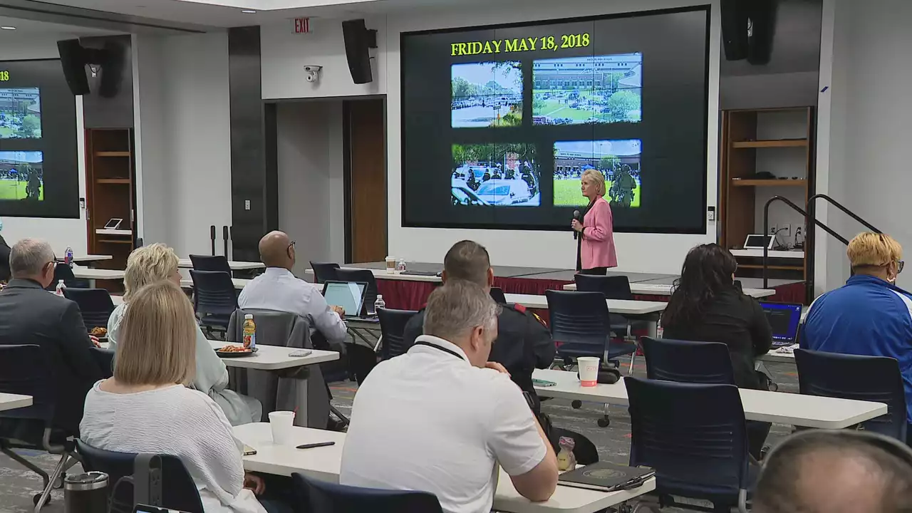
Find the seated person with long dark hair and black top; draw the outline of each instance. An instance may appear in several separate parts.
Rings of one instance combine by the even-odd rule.
[[[765,380],[754,370],[754,364],[758,356],[770,351],[772,329],[760,303],[735,287],[737,268],[735,257],[718,244],[691,249],[662,314],[664,337],[725,344],[735,384],[766,390]],[[759,458],[769,431],[770,424],[748,422],[754,457]]]

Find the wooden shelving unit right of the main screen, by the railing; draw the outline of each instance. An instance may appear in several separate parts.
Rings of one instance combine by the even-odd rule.
[[[772,173],[758,176],[757,173]],[[777,189],[782,188],[782,189]],[[721,119],[719,220],[720,244],[740,249],[744,239],[762,233],[762,205],[776,195],[788,197],[802,209],[814,194],[814,107],[763,110],[723,110]],[[775,212],[774,212],[775,211]],[[813,279],[813,234],[801,215],[785,204],[770,205],[773,215],[801,219],[803,252],[774,252],[769,277]],[[782,218],[782,217],[780,217]],[[797,222],[797,221],[795,221]],[[784,239],[784,240],[783,240]],[[792,243],[793,235],[780,237]],[[741,252],[746,253],[746,252]],[[760,277],[762,257],[737,256],[739,277]]]

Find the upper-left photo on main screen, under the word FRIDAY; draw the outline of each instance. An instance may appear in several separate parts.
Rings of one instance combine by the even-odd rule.
[[[523,71],[517,61],[451,67],[453,128],[513,127],[523,122]]]

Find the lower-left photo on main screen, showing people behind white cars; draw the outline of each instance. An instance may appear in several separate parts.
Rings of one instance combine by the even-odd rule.
[[[541,170],[535,145],[453,144],[452,204],[539,206]]]

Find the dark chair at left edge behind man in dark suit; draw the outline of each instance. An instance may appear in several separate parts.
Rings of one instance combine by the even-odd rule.
[[[0,452],[25,466],[43,481],[43,492],[32,497],[36,511],[50,500],[51,487],[72,466],[75,435],[53,427],[57,382],[44,351],[37,345],[0,346],[0,393],[32,396],[32,405],[0,412]],[[60,455],[50,475],[13,449]]]

